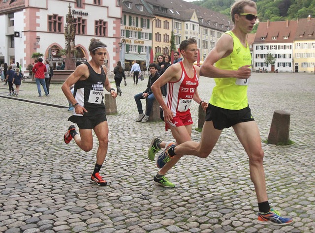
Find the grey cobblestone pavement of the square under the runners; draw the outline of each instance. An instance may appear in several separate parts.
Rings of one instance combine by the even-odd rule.
[[[0,83],[0,232],[315,233],[314,74],[253,73],[249,87],[269,201],[282,215],[294,217],[290,226],[255,223],[248,158],[232,129],[223,131],[207,159],[179,161],[167,174],[174,189],[153,183],[158,169],[147,158],[151,139],[173,139],[162,121],[135,122],[133,96],[145,90],[146,80],[135,86],[128,78],[117,97],[119,113],[107,117],[110,142],[101,169],[106,187],[89,181],[96,137],[90,152],[63,142],[70,113],[61,84],[51,85],[51,97],[40,98],[33,83],[23,83],[19,97],[6,96],[8,87]],[[208,100],[214,81],[201,78],[200,83],[199,93]],[[191,109],[192,139],[199,141],[198,104]],[[263,142],[275,110],[291,114],[294,145]]]

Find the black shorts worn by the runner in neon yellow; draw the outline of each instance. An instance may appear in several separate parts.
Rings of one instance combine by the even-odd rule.
[[[237,123],[252,120],[254,120],[254,118],[252,117],[249,106],[240,110],[229,110],[211,104],[208,104],[205,119],[205,121],[213,121],[215,129],[219,130],[229,128]]]

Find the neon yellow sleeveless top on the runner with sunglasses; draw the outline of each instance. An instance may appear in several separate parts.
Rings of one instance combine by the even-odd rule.
[[[232,31],[227,31],[233,38],[233,52],[221,58],[215,66],[223,70],[237,70],[241,66],[251,65],[252,57],[249,46],[240,42]],[[237,78],[215,78],[216,86],[213,88],[210,104],[230,110],[240,110],[248,106],[247,85],[249,80]]]

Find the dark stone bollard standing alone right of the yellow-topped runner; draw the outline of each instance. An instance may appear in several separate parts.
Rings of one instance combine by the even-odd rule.
[[[290,131],[290,114],[285,111],[276,110],[272,117],[268,143],[288,145]]]

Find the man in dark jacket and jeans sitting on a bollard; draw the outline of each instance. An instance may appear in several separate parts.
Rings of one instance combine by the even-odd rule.
[[[148,80],[148,86],[147,89],[139,94],[136,94],[134,96],[134,100],[136,101],[137,108],[138,108],[138,113],[139,116],[136,119],[137,122],[147,122],[149,120],[149,116],[152,110],[153,102],[156,99],[154,97],[154,94],[151,90],[151,86],[154,84],[155,81],[158,80],[159,74],[158,74],[158,64],[156,63],[151,63],[149,65],[150,73],[151,75],[149,76]],[[142,110],[142,104],[141,104],[141,99],[147,99],[147,109],[146,109],[146,114],[143,113]]]

